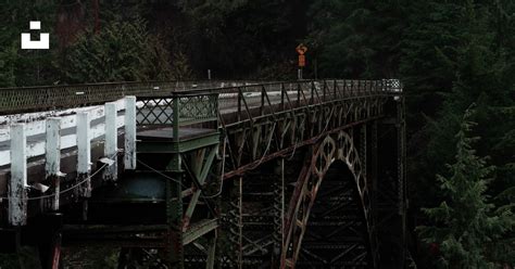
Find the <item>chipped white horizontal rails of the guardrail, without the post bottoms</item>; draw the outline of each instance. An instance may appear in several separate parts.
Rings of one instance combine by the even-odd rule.
[[[129,111],[133,113],[127,113]],[[127,117],[128,114],[134,116]],[[109,133],[113,127],[115,132]],[[104,137],[102,140],[106,144],[112,143],[113,138],[116,142],[117,129],[122,127],[126,133],[128,127],[136,127],[134,97],[109,102],[103,106],[0,116],[0,167],[13,163],[13,152],[23,153],[25,158],[42,155],[49,157],[55,154],[52,151],[58,148],[62,151],[101,137]],[[22,141],[16,143],[22,137],[25,150],[20,148]]]

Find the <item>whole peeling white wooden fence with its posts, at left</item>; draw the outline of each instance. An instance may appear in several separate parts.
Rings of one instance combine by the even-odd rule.
[[[109,166],[103,171],[104,179],[116,180],[117,168],[113,158],[117,156],[118,128],[124,132],[124,167],[136,168],[136,98],[126,97],[104,106],[77,108],[67,115],[33,115],[37,119],[28,123],[30,115],[2,118],[0,125],[0,167],[11,166],[9,180],[9,221],[25,225],[27,207],[27,159],[45,158],[46,177],[54,180],[53,208],[59,209],[59,179],[61,172],[61,151],[76,148],[77,175],[89,185],[91,167],[91,142],[103,142],[103,162]],[[9,123],[13,120],[14,123]],[[90,188],[83,195],[88,196]]]

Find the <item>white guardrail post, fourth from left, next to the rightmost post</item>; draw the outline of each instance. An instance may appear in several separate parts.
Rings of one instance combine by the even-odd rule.
[[[117,127],[116,127],[116,103],[110,102],[104,105],[105,114],[105,143],[103,148],[104,157],[113,159],[114,162],[109,164],[103,171],[104,180],[116,180],[118,158],[116,157],[117,149]]]

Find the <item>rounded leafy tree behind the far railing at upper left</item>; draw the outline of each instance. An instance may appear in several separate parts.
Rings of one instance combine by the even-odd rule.
[[[166,79],[171,76],[167,52],[151,37],[143,20],[114,21],[100,33],[78,38],[60,69],[72,84]]]

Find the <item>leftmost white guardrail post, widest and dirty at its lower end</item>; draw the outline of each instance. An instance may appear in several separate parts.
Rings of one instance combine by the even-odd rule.
[[[27,223],[27,140],[25,124],[11,125],[11,180],[9,181],[9,223]]]

